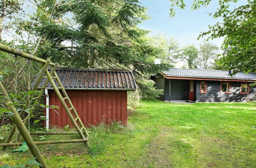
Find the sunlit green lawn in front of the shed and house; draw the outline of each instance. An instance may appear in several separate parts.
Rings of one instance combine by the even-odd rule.
[[[256,167],[255,112],[255,103],[142,101],[126,128],[91,128],[90,150],[81,143],[38,147],[51,167]],[[79,138],[45,138],[64,136]],[[0,165],[30,158],[29,151],[0,150]]]

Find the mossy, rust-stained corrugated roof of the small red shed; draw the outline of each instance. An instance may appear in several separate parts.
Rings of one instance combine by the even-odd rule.
[[[62,82],[62,85],[65,87],[65,89],[69,90],[137,89],[133,72],[129,70],[56,68],[56,73],[58,74],[59,79]],[[36,79],[33,81],[32,86],[34,86]],[[38,87],[42,87],[45,80],[46,78],[42,78]],[[54,81],[55,83],[57,83],[55,79]],[[48,83],[47,89],[53,89],[50,82]]]

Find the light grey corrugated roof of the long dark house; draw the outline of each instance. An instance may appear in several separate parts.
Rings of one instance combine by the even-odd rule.
[[[216,78],[216,79],[240,79],[240,80],[256,80],[256,73],[239,72],[230,76],[228,71],[205,70],[205,69],[182,69],[170,68],[163,71],[166,76],[172,77],[197,77],[197,78]]]

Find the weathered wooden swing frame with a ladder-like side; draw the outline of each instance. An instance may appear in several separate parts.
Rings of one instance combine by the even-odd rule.
[[[20,114],[17,113],[16,108],[12,104],[10,97],[8,95],[8,93],[6,92],[2,82],[0,81],[0,91],[5,95],[5,97],[7,98],[5,104],[8,108],[10,108],[13,112],[13,116],[11,117],[11,119],[13,120],[14,124],[16,126],[14,126],[10,132],[10,135],[6,141],[6,143],[4,144],[0,144],[0,147],[4,147],[3,149],[5,149],[8,146],[15,146],[15,145],[22,145],[22,143],[14,143],[14,141],[12,141],[13,135],[15,133],[19,133],[17,134],[22,135],[24,138],[24,141],[27,143],[31,153],[33,154],[33,156],[36,158],[36,161],[39,162],[40,164],[42,164],[42,167],[48,167],[44,158],[42,158],[38,148],[36,147],[36,145],[43,145],[43,144],[60,144],[60,143],[79,143],[79,142],[83,142],[84,144],[86,144],[87,146],[89,146],[88,144],[88,131],[86,130],[86,127],[84,127],[81,119],[79,118],[77,111],[75,109],[75,107],[73,106],[65,88],[63,87],[55,69],[58,67],[58,63],[52,63],[50,61],[44,60],[44,59],[40,59],[38,57],[35,57],[31,54],[19,51],[17,49],[8,47],[6,45],[3,45],[0,43],[0,50],[8,52],[8,53],[12,53],[15,54],[19,57],[23,57],[29,60],[33,60],[36,61],[38,63],[43,64],[42,69],[39,72],[38,78],[35,82],[35,85],[33,86],[32,90],[40,90],[40,93],[37,97],[34,98],[35,101],[38,101],[41,96],[43,95],[49,81],[54,89],[54,91],[56,92],[56,95],[58,96],[59,100],[61,101],[61,104],[63,105],[63,107],[66,110],[66,113],[68,114],[71,122],[73,123],[73,125],[75,126],[77,133],[76,132],[42,132],[41,134],[48,134],[48,135],[54,135],[54,134],[79,134],[81,139],[71,139],[71,140],[62,140],[62,141],[45,141],[45,142],[34,142],[31,135],[36,135],[36,133],[30,133],[28,131],[28,129],[26,128],[26,125],[28,123],[28,119],[29,116],[27,116],[24,120],[22,120],[22,117],[25,115],[25,110],[26,109],[22,109],[22,111],[20,112]],[[48,70],[48,66],[51,66],[51,70]],[[38,88],[39,82],[41,81],[42,78],[47,78],[43,84],[42,87]],[[55,80],[55,81],[54,81]],[[60,91],[62,92],[63,96],[61,95]],[[32,105],[32,108],[35,107],[35,103]],[[75,117],[74,117],[75,116]],[[16,127],[18,130],[16,130]]]

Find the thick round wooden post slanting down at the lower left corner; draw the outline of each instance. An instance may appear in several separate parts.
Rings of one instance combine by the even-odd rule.
[[[7,98],[5,101],[5,105],[6,105],[6,107],[10,108],[12,110],[12,113],[14,114],[14,116],[12,116],[11,119],[13,120],[14,124],[17,126],[20,134],[22,135],[25,142],[27,143],[31,153],[33,154],[34,157],[36,157],[36,161],[42,165],[41,167],[48,167],[44,158],[42,158],[41,153],[39,152],[38,148],[36,147],[32,137],[30,136],[29,131],[27,130],[26,126],[24,125],[22,118],[20,118],[16,108],[13,105],[11,105],[12,104],[11,99],[10,99],[8,93],[6,92],[1,81],[0,81],[0,91],[2,93],[4,93],[4,96]]]

